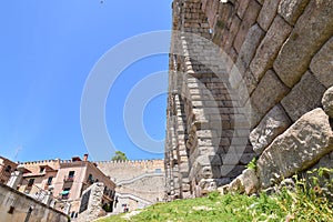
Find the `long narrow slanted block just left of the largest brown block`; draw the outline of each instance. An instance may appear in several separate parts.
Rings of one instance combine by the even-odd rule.
[[[281,17],[275,17],[250,64],[251,71],[258,81],[272,68],[274,59],[283,42],[289,37],[291,29],[292,28]]]

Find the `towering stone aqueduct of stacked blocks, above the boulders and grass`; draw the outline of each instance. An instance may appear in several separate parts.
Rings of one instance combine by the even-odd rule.
[[[333,84],[331,0],[174,0],[172,9],[170,200],[230,183]]]

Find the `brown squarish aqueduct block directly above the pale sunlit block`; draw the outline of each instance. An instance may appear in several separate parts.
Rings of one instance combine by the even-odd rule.
[[[289,89],[279,80],[274,71],[269,70],[252,93],[250,98],[251,105],[255,107],[263,117],[271,108],[280,102],[287,92]]]

